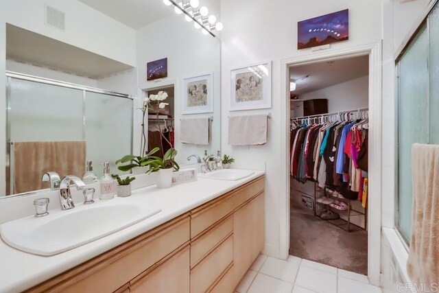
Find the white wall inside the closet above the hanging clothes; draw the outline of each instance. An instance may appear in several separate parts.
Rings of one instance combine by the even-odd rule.
[[[368,107],[369,75],[305,93],[300,99],[328,99],[329,113]]]

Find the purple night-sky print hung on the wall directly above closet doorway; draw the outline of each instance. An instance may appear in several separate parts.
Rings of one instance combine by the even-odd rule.
[[[349,10],[341,10],[297,23],[297,49],[306,49],[349,39]]]

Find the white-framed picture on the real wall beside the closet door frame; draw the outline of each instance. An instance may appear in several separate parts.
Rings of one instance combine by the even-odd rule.
[[[230,110],[271,108],[272,62],[231,71]]]

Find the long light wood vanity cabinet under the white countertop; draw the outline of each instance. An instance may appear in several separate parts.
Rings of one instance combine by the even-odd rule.
[[[257,178],[27,292],[233,292],[263,249],[263,188]]]

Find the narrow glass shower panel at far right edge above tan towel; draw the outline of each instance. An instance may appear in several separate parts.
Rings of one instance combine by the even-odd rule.
[[[439,144],[439,5],[428,17],[429,21],[429,134],[430,143]]]

